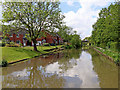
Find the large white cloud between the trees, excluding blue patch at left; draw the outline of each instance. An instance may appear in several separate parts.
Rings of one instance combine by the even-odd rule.
[[[83,39],[91,35],[92,25],[97,20],[99,9],[107,7],[111,2],[114,2],[114,0],[79,0],[82,8],[79,8],[77,12],[69,11],[64,13],[66,16],[64,21],[78,34],[81,34]]]

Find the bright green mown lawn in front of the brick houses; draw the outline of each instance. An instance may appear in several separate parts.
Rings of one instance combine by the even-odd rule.
[[[38,46],[38,51],[33,51],[33,47],[0,47],[2,49],[2,60],[6,60],[8,63],[18,61],[26,58],[33,58],[41,54],[46,54],[44,50],[62,47],[58,46]]]

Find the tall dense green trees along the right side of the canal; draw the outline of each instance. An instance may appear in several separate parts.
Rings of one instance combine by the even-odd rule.
[[[102,8],[97,22],[92,26],[90,42],[102,48],[119,50],[120,40],[120,2]]]

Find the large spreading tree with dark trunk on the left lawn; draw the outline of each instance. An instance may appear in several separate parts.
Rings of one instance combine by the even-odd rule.
[[[3,22],[24,28],[29,40],[34,43],[37,51],[36,39],[40,37],[42,29],[55,30],[62,24],[59,2],[5,2],[3,4]]]

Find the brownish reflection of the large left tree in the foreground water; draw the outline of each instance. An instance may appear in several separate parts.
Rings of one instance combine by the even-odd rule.
[[[60,88],[64,86],[64,79],[57,74],[46,73],[45,68],[34,64],[33,67],[27,67],[27,76],[5,76],[3,80],[4,87],[17,88]]]

